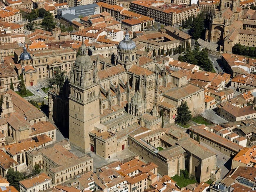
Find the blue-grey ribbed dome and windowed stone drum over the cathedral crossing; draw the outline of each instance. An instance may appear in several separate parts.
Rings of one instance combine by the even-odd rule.
[[[137,47],[134,41],[130,39],[128,30],[124,39],[119,42],[117,52],[118,64],[121,64],[126,70],[130,69],[133,64],[136,64]]]

